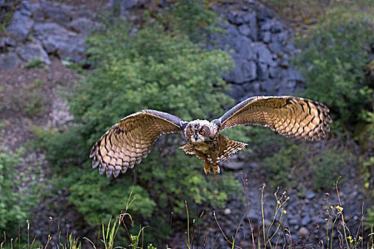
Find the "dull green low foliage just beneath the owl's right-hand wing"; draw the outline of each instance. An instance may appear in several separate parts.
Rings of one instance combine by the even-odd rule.
[[[289,144],[279,152],[266,157],[261,166],[266,170],[267,184],[271,188],[291,188],[302,181],[303,186],[317,190],[331,189],[347,165],[349,154],[333,149],[315,153],[308,147]],[[308,179],[308,181],[304,181]]]

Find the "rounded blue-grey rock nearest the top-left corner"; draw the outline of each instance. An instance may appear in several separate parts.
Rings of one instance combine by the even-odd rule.
[[[11,18],[11,23],[6,27],[6,31],[16,41],[24,41],[31,31],[33,23],[34,21],[30,16],[22,14],[21,11],[15,11]]]

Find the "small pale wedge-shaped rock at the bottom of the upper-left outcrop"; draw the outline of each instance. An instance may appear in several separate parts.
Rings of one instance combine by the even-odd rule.
[[[41,60],[43,63],[51,64],[51,60],[48,58],[48,54],[44,51],[39,41],[28,42],[21,48],[18,48],[16,52],[23,60]]]

